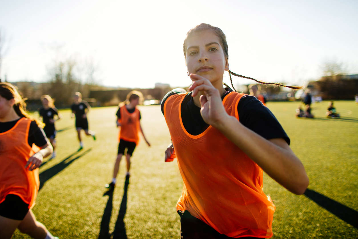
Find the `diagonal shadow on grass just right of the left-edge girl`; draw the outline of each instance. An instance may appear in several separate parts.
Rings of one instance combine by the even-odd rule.
[[[74,154],[77,153],[77,151],[76,151],[76,152],[72,153],[70,156],[67,156],[66,158],[64,158],[58,164],[56,164],[56,165],[52,166],[51,168],[46,169],[45,171],[41,172],[39,174],[39,179],[40,179],[40,188],[39,188],[39,190],[41,190],[41,188],[44,186],[44,184],[45,184],[45,182],[47,180],[49,180],[53,176],[57,175],[57,173],[61,172],[63,169],[65,169],[67,166],[69,166],[73,161],[75,161],[78,158],[81,158],[83,155],[85,155],[86,153],[88,153],[91,150],[92,150],[92,148],[87,149],[82,154],[80,154],[77,157],[71,159],[70,161],[67,161],[69,158],[71,158],[72,156],[74,156]],[[42,166],[43,166],[43,164],[42,164]]]

